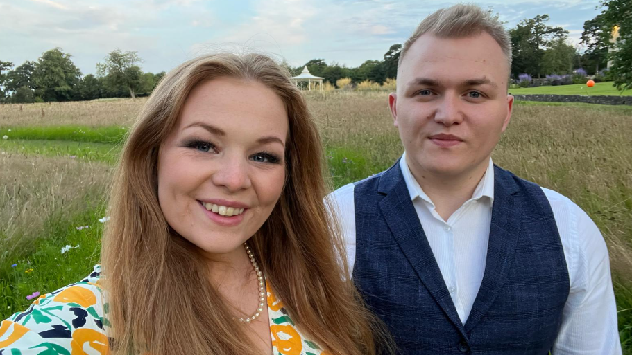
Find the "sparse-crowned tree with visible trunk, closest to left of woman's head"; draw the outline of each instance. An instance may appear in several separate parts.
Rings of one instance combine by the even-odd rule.
[[[112,91],[126,87],[130,97],[135,98],[137,88],[142,84],[143,71],[137,64],[142,60],[135,51],[123,52],[119,48],[108,53],[105,63],[96,64],[96,73],[105,78]]]

